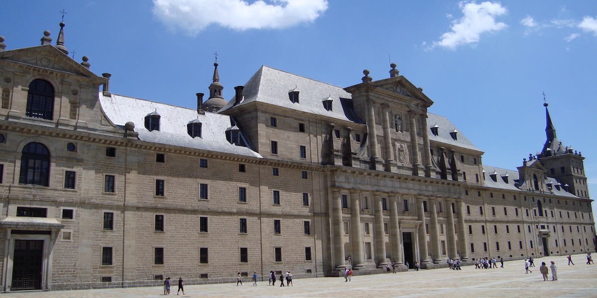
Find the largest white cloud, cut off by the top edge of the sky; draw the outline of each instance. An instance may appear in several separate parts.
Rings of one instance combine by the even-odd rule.
[[[190,35],[211,24],[234,30],[282,29],[315,21],[327,8],[327,0],[153,0],[159,20]]]

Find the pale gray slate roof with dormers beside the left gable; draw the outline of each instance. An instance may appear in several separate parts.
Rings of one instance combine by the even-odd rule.
[[[226,129],[233,126],[230,116],[208,111],[205,114],[198,114],[191,108],[116,94],[105,96],[100,92],[99,97],[101,108],[108,119],[118,126],[124,126],[129,121],[135,123],[134,131],[139,133],[141,141],[261,157],[250,148],[230,144],[226,140]],[[158,113],[160,116],[159,131],[148,131],[145,128],[145,116],[151,113]],[[202,138],[192,138],[187,134],[187,124],[193,120],[199,120],[202,123]]]

